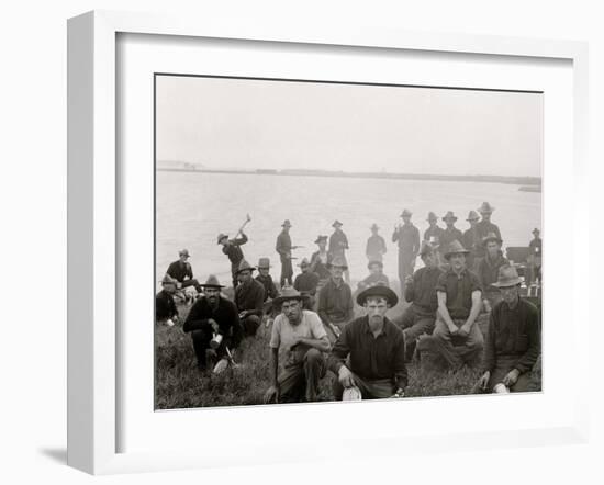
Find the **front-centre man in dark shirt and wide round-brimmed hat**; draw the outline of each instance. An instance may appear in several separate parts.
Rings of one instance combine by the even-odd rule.
[[[366,315],[350,322],[338,337],[328,359],[336,374],[334,396],[343,399],[345,390],[356,398],[402,397],[407,385],[405,338],[385,317],[399,298],[388,286],[376,285],[359,293],[357,303]],[[350,393],[346,393],[350,394]]]

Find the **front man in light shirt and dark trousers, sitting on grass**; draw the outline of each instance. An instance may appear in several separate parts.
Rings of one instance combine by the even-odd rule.
[[[300,403],[316,401],[318,382],[325,376],[323,352],[329,351],[329,340],[318,315],[303,309],[306,296],[286,287],[275,300],[281,314],[275,318],[270,337],[272,386],[265,403]],[[283,370],[279,373],[279,358]]]

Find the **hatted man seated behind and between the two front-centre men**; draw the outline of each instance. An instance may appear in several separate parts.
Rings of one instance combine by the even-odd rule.
[[[318,292],[317,312],[335,339],[344,326],[353,319],[354,302],[350,286],[343,279],[344,271],[348,269],[345,259],[336,257],[327,263],[327,268],[332,275]]]

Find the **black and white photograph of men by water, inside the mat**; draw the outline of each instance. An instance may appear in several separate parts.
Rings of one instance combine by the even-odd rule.
[[[541,392],[543,92],[154,102],[155,409]]]

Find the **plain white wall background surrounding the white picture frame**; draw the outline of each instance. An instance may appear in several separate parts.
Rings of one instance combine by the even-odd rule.
[[[590,42],[591,160],[586,182],[592,194],[594,269],[588,292],[602,286],[601,211],[604,160],[604,15],[597,1],[484,2],[421,1],[228,1],[98,0],[5,2],[0,9],[0,207],[2,224],[2,302],[0,323],[0,481],[12,483],[91,483],[65,466],[66,447],[66,19],[91,9],[170,11],[189,15],[295,18],[300,24],[371,24],[416,31],[559,37]],[[217,2],[216,2],[217,3]],[[569,196],[572,194],[561,194]],[[561,222],[563,224],[563,222]],[[597,257],[596,257],[597,255]],[[585,255],[588,259],[588,255]],[[560,275],[564,274],[563,262]],[[595,302],[595,300],[593,300]],[[8,309],[8,312],[7,312]],[[595,309],[595,305],[594,305]],[[603,364],[594,358],[603,340],[602,317],[594,316],[594,387],[602,388]],[[588,343],[585,343],[588,346]],[[601,353],[601,352],[599,352]],[[572,362],[569,362],[572,365]],[[602,483],[604,427],[601,391],[593,397],[593,438],[589,445],[532,450],[418,455],[400,463],[312,464],[304,469],[131,475],[103,483]],[[276,433],[278,439],[278,433]],[[320,433],[317,433],[320,440]],[[97,478],[98,480],[98,478]]]

